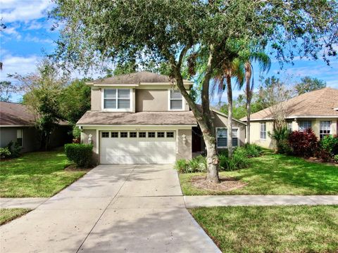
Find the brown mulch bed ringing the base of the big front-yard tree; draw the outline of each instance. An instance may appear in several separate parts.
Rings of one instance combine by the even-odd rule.
[[[247,185],[247,183],[232,177],[220,177],[220,183],[207,181],[206,176],[193,176],[190,181],[196,188],[214,191],[230,191]]]

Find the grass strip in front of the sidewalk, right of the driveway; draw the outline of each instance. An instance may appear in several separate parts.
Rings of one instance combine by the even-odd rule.
[[[338,206],[189,210],[223,252],[338,252]]]

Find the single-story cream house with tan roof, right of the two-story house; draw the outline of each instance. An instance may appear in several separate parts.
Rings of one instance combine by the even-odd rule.
[[[338,129],[338,89],[324,88],[287,100],[287,126],[290,131],[311,128],[323,139],[335,135]],[[242,118],[246,122],[246,117]],[[273,131],[270,108],[251,115],[250,142],[265,148],[274,148],[268,132]]]

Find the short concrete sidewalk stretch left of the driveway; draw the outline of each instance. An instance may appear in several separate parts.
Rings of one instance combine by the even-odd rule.
[[[48,197],[0,197],[0,208],[35,209],[46,200]]]

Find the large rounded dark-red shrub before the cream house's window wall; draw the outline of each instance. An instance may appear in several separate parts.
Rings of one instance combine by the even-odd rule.
[[[318,138],[312,129],[293,131],[289,134],[288,141],[294,155],[311,157],[318,150]]]

